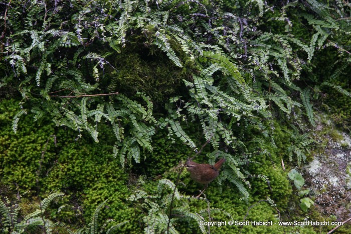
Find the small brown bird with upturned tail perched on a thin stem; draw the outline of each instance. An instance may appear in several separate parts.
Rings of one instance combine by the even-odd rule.
[[[219,170],[225,161],[225,158],[221,158],[217,163],[215,163],[215,165],[210,165],[199,164],[193,162],[191,159],[188,159],[185,167],[190,172],[190,177],[200,184],[205,184],[204,190],[197,197],[200,197],[207,188],[208,184],[217,178],[219,175]]]

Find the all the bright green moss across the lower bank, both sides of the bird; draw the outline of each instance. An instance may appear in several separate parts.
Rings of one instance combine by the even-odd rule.
[[[31,189],[33,192],[26,195],[21,203],[23,206],[23,215],[33,211],[34,206],[31,205],[36,200],[36,195],[45,197],[47,194],[54,191],[63,191],[66,196],[61,203],[54,204],[49,213],[53,219],[63,221],[65,223],[72,222],[75,227],[81,227],[90,222],[91,215],[95,208],[103,200],[108,199],[106,206],[103,208],[100,219],[101,222],[106,218],[114,218],[118,221],[130,220],[129,223],[123,225],[120,229],[122,232],[135,233],[144,228],[141,221],[145,216],[145,208],[140,203],[132,203],[127,200],[130,194],[135,190],[143,188],[148,194],[153,194],[156,189],[158,179],[169,178],[172,181],[177,181],[179,173],[179,162],[187,159],[194,153],[188,146],[179,141],[172,142],[165,138],[165,132],[158,130],[153,136],[153,152],[143,152],[145,160],[140,164],[134,164],[130,169],[122,169],[118,159],[112,157],[112,146],[114,142],[111,130],[108,127],[99,126],[99,132],[104,134],[100,136],[100,143],[94,143],[89,136],[83,137],[75,141],[76,134],[68,129],[56,129],[49,122],[42,122],[42,125],[31,122],[30,116],[25,116],[25,122],[20,125],[19,134],[15,135],[11,132],[11,116],[16,112],[16,101],[9,100],[2,102],[0,109],[4,110],[0,114],[0,118],[4,120],[2,133],[2,149],[11,150],[14,152],[4,153],[5,159],[0,159],[0,170],[6,172],[9,177],[0,177],[2,186],[7,184],[13,190],[12,181],[16,181],[21,191]],[[7,112],[5,110],[8,110]],[[277,204],[277,209],[281,211],[281,220],[302,220],[304,213],[298,208],[299,197],[292,191],[291,183],[288,180],[287,172],[281,167],[281,159],[288,162],[286,149],[291,145],[290,130],[284,123],[274,123],[274,139],[276,148],[270,142],[264,142],[263,147],[266,153],[260,150],[258,154],[253,154],[250,160],[256,163],[251,163],[245,166],[245,170],[255,175],[262,174],[270,180],[270,187],[266,181],[252,177],[249,178],[251,183],[250,198],[247,202],[240,200],[238,189],[229,183],[224,183],[220,187],[216,182],[212,182],[206,190],[207,199],[211,208],[219,208],[229,212],[234,220],[243,221],[245,215],[246,220],[257,221],[276,221],[277,210],[266,200],[270,197]],[[198,145],[203,142],[203,139],[198,138],[199,128],[196,124],[191,124],[187,127],[187,131],[191,133],[191,137],[198,141]],[[248,136],[250,130],[248,129]],[[254,133],[252,133],[254,134]],[[255,133],[256,134],[256,133]],[[321,133],[322,134],[322,133]],[[51,135],[56,136],[56,145]],[[41,158],[43,145],[49,140],[48,148],[45,153],[45,158],[42,162],[42,171],[37,174],[38,161]],[[247,141],[251,139],[248,137]],[[30,177],[23,177],[16,173],[11,174],[9,160],[16,159],[17,148],[22,144],[25,156],[21,157],[22,162],[11,161],[15,165],[15,170],[24,170],[24,173]],[[250,151],[255,151],[258,146],[246,143]],[[206,152],[210,151],[210,146],[206,147],[201,155],[196,159],[198,162],[206,162]],[[2,160],[2,161],[1,161]],[[5,161],[6,160],[6,161]],[[24,164],[23,166],[21,166]],[[288,171],[288,163],[285,165]],[[4,174],[5,175],[5,174]],[[143,179],[143,184],[138,184],[137,178],[139,175],[146,175]],[[39,178],[39,184],[36,179]],[[35,194],[40,187],[40,194]],[[28,186],[28,187],[27,187]],[[197,195],[198,191],[203,186],[197,184],[190,179],[188,172],[184,171],[181,176],[181,181],[178,184],[178,189],[181,193],[187,195]],[[33,195],[34,193],[34,195]],[[32,197],[33,196],[33,197]],[[66,206],[57,213],[57,208],[60,205]],[[69,204],[69,205],[68,205]],[[175,203],[175,205],[189,208],[193,212],[206,210],[208,203],[203,200],[186,201],[184,203]],[[288,209],[288,207],[295,207]],[[315,220],[321,220],[315,210],[310,210],[309,215],[313,215]],[[229,217],[224,212],[214,212],[211,214],[214,220],[229,220]],[[200,233],[198,223],[192,220],[179,219],[175,223],[176,228],[182,233]],[[211,227],[211,231],[215,233],[282,233],[296,231],[300,233],[315,233],[312,226],[305,228],[289,227],[289,226],[221,226]],[[331,228],[330,228],[331,229]],[[323,227],[323,231],[326,227]]]

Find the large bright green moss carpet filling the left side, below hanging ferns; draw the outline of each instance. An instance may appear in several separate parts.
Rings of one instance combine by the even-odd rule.
[[[16,100],[0,103],[0,119],[4,123],[0,133],[0,182],[13,190],[18,186],[21,194],[31,191],[20,203],[21,214],[26,215],[35,208],[33,201],[37,198],[33,193],[39,191],[36,195],[45,197],[62,191],[66,194],[66,204],[71,205],[66,205],[59,214],[56,214],[58,207],[50,208],[60,220],[78,224],[84,223],[85,218],[88,223],[97,205],[105,199],[109,199],[109,208],[102,212],[101,218],[133,219],[130,215],[133,210],[126,205],[130,194],[128,173],[112,157],[113,138],[108,127],[99,126],[99,131],[105,133],[100,138],[102,143],[94,143],[89,136],[75,141],[73,131],[56,129],[45,120],[42,125],[33,123],[28,115],[15,134],[11,130],[11,118],[17,111],[16,103]],[[81,205],[83,210],[79,209]],[[137,228],[129,224],[121,230]]]

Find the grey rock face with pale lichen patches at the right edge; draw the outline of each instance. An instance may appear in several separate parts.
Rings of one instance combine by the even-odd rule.
[[[324,136],[327,145],[304,167],[304,178],[318,210],[343,221],[351,215],[351,139],[340,136],[341,141]]]

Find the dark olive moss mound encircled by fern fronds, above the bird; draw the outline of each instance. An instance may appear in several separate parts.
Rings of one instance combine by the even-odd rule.
[[[170,64],[168,57],[159,50],[133,47],[137,38],[131,36],[129,40],[134,43],[110,59],[113,66],[118,67],[118,72],[108,74],[111,76],[109,88],[124,94],[144,92],[156,107],[163,107],[170,96],[179,93],[189,71]]]

